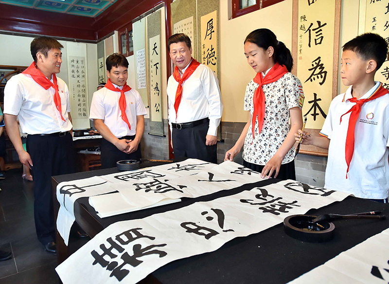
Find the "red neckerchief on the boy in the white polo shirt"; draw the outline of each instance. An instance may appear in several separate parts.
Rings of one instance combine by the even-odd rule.
[[[369,98],[357,100],[356,98],[353,97],[348,99],[348,101],[355,103],[355,105],[345,113],[347,114],[351,112],[350,119],[349,119],[349,127],[347,129],[347,137],[346,137],[346,163],[347,163],[346,178],[347,178],[347,174],[349,173],[350,162],[354,154],[355,124],[358,120],[359,113],[361,112],[362,105],[366,102],[369,102],[383,95],[386,95],[387,93],[389,93],[389,90],[383,88],[382,83],[380,83],[378,88],[371,94]],[[343,115],[340,117],[340,123],[342,123]]]

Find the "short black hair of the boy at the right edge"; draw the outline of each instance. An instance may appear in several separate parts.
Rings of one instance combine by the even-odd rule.
[[[362,60],[375,60],[378,70],[388,57],[388,42],[381,35],[365,33],[345,43],[343,51],[346,50],[353,51]]]

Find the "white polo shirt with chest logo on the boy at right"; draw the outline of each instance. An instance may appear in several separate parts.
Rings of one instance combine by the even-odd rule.
[[[366,99],[379,87],[375,82],[361,99]],[[327,117],[320,134],[328,137],[327,168],[325,188],[342,191],[361,198],[384,199],[389,190],[389,94],[381,96],[362,105],[354,132],[354,154],[346,179],[346,136],[350,110],[355,103],[350,86],[346,93],[332,100]]]

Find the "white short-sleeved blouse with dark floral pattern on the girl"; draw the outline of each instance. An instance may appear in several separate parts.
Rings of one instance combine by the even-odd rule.
[[[254,111],[253,96],[258,84],[251,80],[246,88],[244,110]],[[265,165],[277,152],[289,133],[289,109],[302,107],[304,94],[300,80],[292,73],[286,73],[276,82],[263,86],[265,94],[265,116],[261,133],[258,135],[258,118],[255,123],[254,141],[252,122],[246,135],[242,157],[249,163]],[[252,143],[251,143],[252,142]],[[292,147],[283,158],[288,163],[295,157]]]

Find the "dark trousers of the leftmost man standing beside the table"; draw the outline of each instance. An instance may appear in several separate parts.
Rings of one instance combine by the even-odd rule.
[[[27,152],[34,170],[34,217],[38,240],[55,241],[52,176],[74,173],[74,146],[71,134],[27,136]]]

